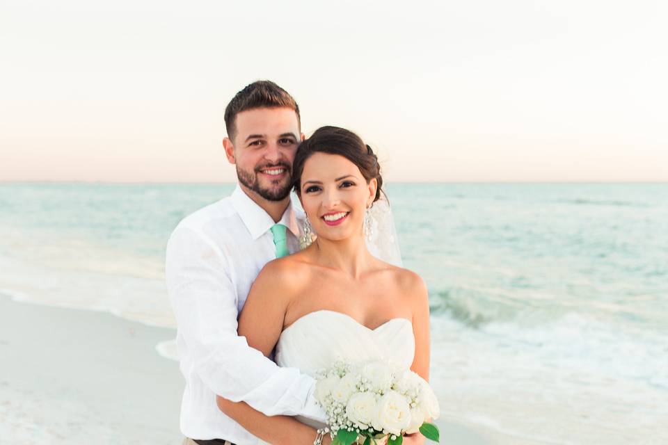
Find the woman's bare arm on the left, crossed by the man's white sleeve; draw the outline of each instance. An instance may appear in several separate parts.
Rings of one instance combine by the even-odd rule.
[[[272,261],[257,275],[239,316],[238,332],[248,346],[269,356],[280,333],[290,297],[294,295],[292,259]],[[232,402],[218,396],[218,408],[251,434],[270,444],[312,444],[316,437],[311,428],[289,416],[266,416],[244,402]],[[323,441],[328,443],[329,438]]]

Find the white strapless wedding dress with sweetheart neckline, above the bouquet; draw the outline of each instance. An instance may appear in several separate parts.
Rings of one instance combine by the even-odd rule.
[[[413,325],[406,318],[392,318],[369,329],[349,315],[319,310],[298,318],[276,343],[276,363],[314,376],[337,360],[348,363],[383,360],[411,368],[415,355]],[[321,425],[298,419],[316,428]]]

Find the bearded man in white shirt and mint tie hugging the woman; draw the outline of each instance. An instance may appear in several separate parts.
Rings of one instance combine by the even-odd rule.
[[[262,267],[299,249],[300,223],[289,197],[303,140],[299,106],[276,83],[257,81],[225,108],[225,127],[223,147],[239,184],[229,197],[184,218],[167,246],[167,288],[186,380],[184,444],[257,443],[218,410],[216,394],[268,416],[324,421],[312,378],[278,367],[237,335],[237,317]]]

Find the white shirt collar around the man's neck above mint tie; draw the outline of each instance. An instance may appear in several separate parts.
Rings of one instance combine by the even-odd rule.
[[[234,209],[239,213],[241,221],[244,222],[246,229],[250,232],[250,236],[254,240],[260,238],[273,227],[274,223],[269,213],[264,211],[262,207],[257,205],[255,201],[251,200],[246,192],[241,189],[241,186],[237,184],[237,188],[234,189],[232,193],[232,205]],[[290,200],[287,209],[283,212],[278,224],[283,224],[287,229],[299,238],[299,223],[297,223],[297,218],[292,206],[292,200]]]

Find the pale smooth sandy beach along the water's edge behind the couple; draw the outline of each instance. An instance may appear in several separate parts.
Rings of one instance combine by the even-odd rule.
[[[0,296],[0,444],[180,444],[175,331]],[[516,443],[438,421],[442,443]],[[7,441],[7,442],[6,442]]]

